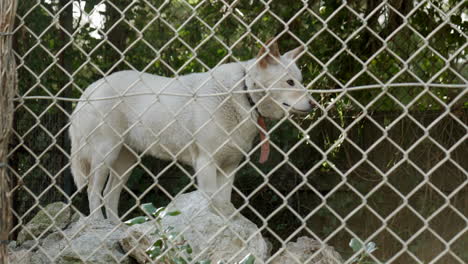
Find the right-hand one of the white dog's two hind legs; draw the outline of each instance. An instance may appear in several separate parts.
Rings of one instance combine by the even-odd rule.
[[[104,206],[106,215],[113,223],[119,223],[119,199],[123,187],[132,174],[132,167],[136,165],[137,157],[123,147],[112,165],[109,180],[104,189]]]

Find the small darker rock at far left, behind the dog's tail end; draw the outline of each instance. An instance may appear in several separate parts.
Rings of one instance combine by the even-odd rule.
[[[56,202],[47,205],[39,211],[29,223],[19,232],[17,243],[23,244],[25,241],[36,238],[43,238],[47,234],[59,229],[64,229],[73,220],[77,220],[79,215],[72,216],[70,206],[63,202]]]

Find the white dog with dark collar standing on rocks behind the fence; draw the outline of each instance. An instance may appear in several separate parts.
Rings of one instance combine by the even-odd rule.
[[[104,198],[107,217],[119,219],[120,193],[144,154],[193,166],[213,205],[230,205],[238,164],[261,131],[257,121],[312,109],[295,63],[303,48],[280,55],[276,43],[267,43],[257,58],[207,73],[121,71],[93,83],[70,126],[73,178],[78,189],[88,184],[91,214],[103,218]]]

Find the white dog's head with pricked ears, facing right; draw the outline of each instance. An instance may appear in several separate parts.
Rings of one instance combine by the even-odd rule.
[[[299,47],[281,55],[276,42],[268,41],[254,60],[246,78],[251,97],[257,103],[260,114],[280,119],[287,113],[307,114],[313,109],[311,97],[302,85],[302,74],[296,65],[303,48]],[[270,89],[272,88],[272,89]]]

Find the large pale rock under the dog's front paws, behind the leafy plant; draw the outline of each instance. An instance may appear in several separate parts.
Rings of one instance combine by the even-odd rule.
[[[171,226],[182,232],[193,249],[194,260],[234,263],[249,253],[257,259],[267,258],[267,243],[254,223],[241,215],[226,223],[224,217],[210,209],[209,200],[198,191],[180,195],[167,210],[179,210],[181,214],[164,217],[163,227]],[[157,236],[151,235],[154,230],[154,221],[131,226],[128,228],[129,235],[120,244],[138,263],[145,263],[149,260],[145,250],[157,239]]]

